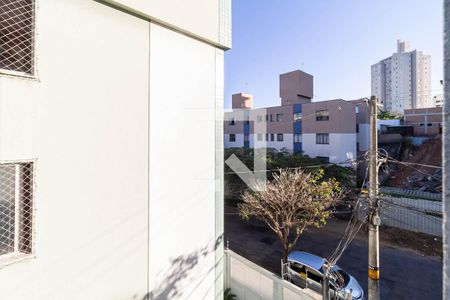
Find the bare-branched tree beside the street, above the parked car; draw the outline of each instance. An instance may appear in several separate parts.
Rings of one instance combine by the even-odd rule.
[[[283,246],[284,262],[305,228],[326,224],[331,208],[343,197],[339,183],[322,180],[323,174],[323,170],[280,170],[273,180],[267,181],[265,190],[247,191],[242,196],[241,217],[254,216],[275,232]]]

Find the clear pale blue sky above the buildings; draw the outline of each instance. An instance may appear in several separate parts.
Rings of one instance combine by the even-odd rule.
[[[441,0],[234,0],[233,47],[225,54],[225,107],[254,95],[279,105],[278,76],[314,76],[313,101],[370,95],[370,66],[397,51],[397,39],[431,55],[432,93],[442,93]]]

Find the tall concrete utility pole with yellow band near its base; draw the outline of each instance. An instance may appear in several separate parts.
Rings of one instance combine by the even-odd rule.
[[[370,162],[369,162],[369,300],[380,299],[380,226],[378,206],[378,132],[377,98],[370,97]]]

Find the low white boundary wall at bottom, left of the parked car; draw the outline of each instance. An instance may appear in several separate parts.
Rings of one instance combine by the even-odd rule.
[[[251,261],[226,251],[226,286],[237,300],[319,300],[321,295],[282,280]]]

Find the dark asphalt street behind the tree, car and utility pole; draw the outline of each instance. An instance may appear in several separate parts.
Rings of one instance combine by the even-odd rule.
[[[308,230],[300,237],[297,249],[328,257],[337,246],[345,224],[335,220],[323,228]],[[237,214],[228,212],[225,215],[225,237],[231,250],[280,274],[281,244],[263,222],[244,221]],[[364,232],[360,232],[347,248],[338,265],[359,281],[367,295],[367,241]],[[440,257],[381,244],[380,276],[381,299],[442,299]]]

